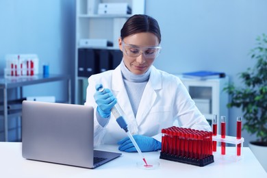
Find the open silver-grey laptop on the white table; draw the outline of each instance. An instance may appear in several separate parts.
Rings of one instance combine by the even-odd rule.
[[[92,106],[23,101],[22,155],[28,160],[97,168],[121,153],[94,150]]]

